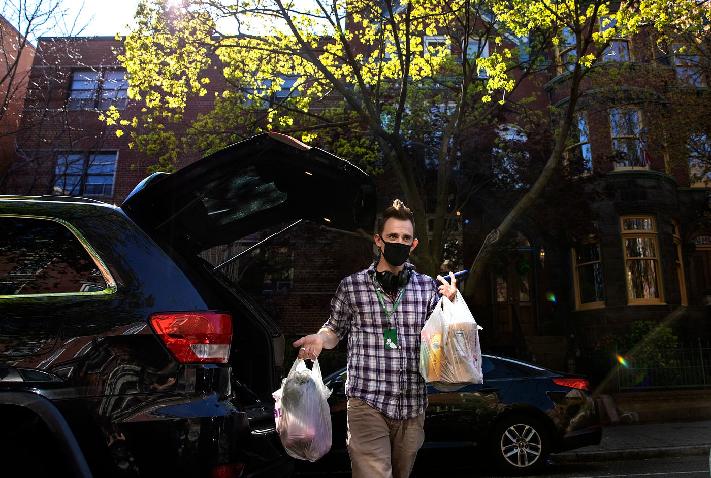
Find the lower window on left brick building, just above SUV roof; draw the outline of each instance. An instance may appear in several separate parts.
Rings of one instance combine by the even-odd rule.
[[[57,160],[53,193],[63,196],[111,196],[116,152],[64,153]]]

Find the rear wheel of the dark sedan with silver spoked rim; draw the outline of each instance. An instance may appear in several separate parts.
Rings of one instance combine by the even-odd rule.
[[[540,421],[524,415],[504,418],[493,429],[491,451],[505,474],[530,474],[545,465],[550,439]]]

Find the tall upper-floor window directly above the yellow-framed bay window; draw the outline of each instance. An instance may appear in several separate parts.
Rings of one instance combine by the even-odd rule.
[[[610,112],[612,149],[617,158],[615,168],[648,168],[649,156],[637,108],[613,108]]]

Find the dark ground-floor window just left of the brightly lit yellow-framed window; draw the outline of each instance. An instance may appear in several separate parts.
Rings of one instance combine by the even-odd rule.
[[[575,300],[577,308],[604,307],[600,242],[585,241],[573,249]]]

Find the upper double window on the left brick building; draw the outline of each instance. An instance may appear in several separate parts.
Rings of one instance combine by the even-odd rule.
[[[69,92],[69,109],[124,109],[128,102],[128,82],[122,70],[75,71]]]

